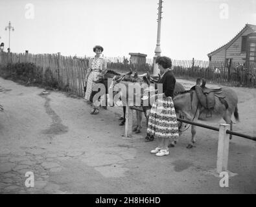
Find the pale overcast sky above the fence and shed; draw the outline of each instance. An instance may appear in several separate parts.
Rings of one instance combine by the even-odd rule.
[[[11,21],[15,29],[10,38],[12,52],[93,56],[93,46],[102,45],[104,56],[141,52],[152,58],[157,3],[158,0],[1,0],[0,41],[7,49],[5,27]],[[207,60],[207,53],[227,43],[246,23],[256,24],[256,0],[165,0],[161,55]]]

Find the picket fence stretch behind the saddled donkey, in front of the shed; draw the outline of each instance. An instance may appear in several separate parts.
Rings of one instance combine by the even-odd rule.
[[[256,64],[201,60],[172,60],[174,74],[180,78],[205,78],[209,82],[228,83],[233,86],[256,87]]]

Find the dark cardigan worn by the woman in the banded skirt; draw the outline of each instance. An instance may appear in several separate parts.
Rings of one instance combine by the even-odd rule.
[[[176,79],[174,77],[174,74],[172,71],[167,71],[165,74],[163,74],[163,77],[161,78],[159,83],[163,83],[163,93],[165,96],[169,97],[171,96],[173,98],[174,88]]]

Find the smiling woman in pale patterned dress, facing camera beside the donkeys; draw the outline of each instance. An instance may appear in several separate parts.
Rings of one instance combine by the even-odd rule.
[[[96,55],[89,60],[89,67],[86,73],[86,95],[84,98],[87,102],[93,103],[93,109],[91,110],[91,114],[99,113],[99,100],[95,100],[93,102],[93,96],[97,93],[97,91],[93,91],[93,87],[95,86],[95,81],[98,79],[99,74],[104,74],[107,71],[107,62],[101,56],[103,52],[103,47],[96,45],[93,47],[93,52]]]

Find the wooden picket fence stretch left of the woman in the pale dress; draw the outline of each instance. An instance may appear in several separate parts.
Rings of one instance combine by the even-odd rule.
[[[81,60],[60,54],[24,54],[0,52],[0,64],[34,63],[43,71],[50,69],[54,80],[65,91],[84,96],[84,80],[87,71],[87,60]],[[40,71],[41,72],[41,71]]]

